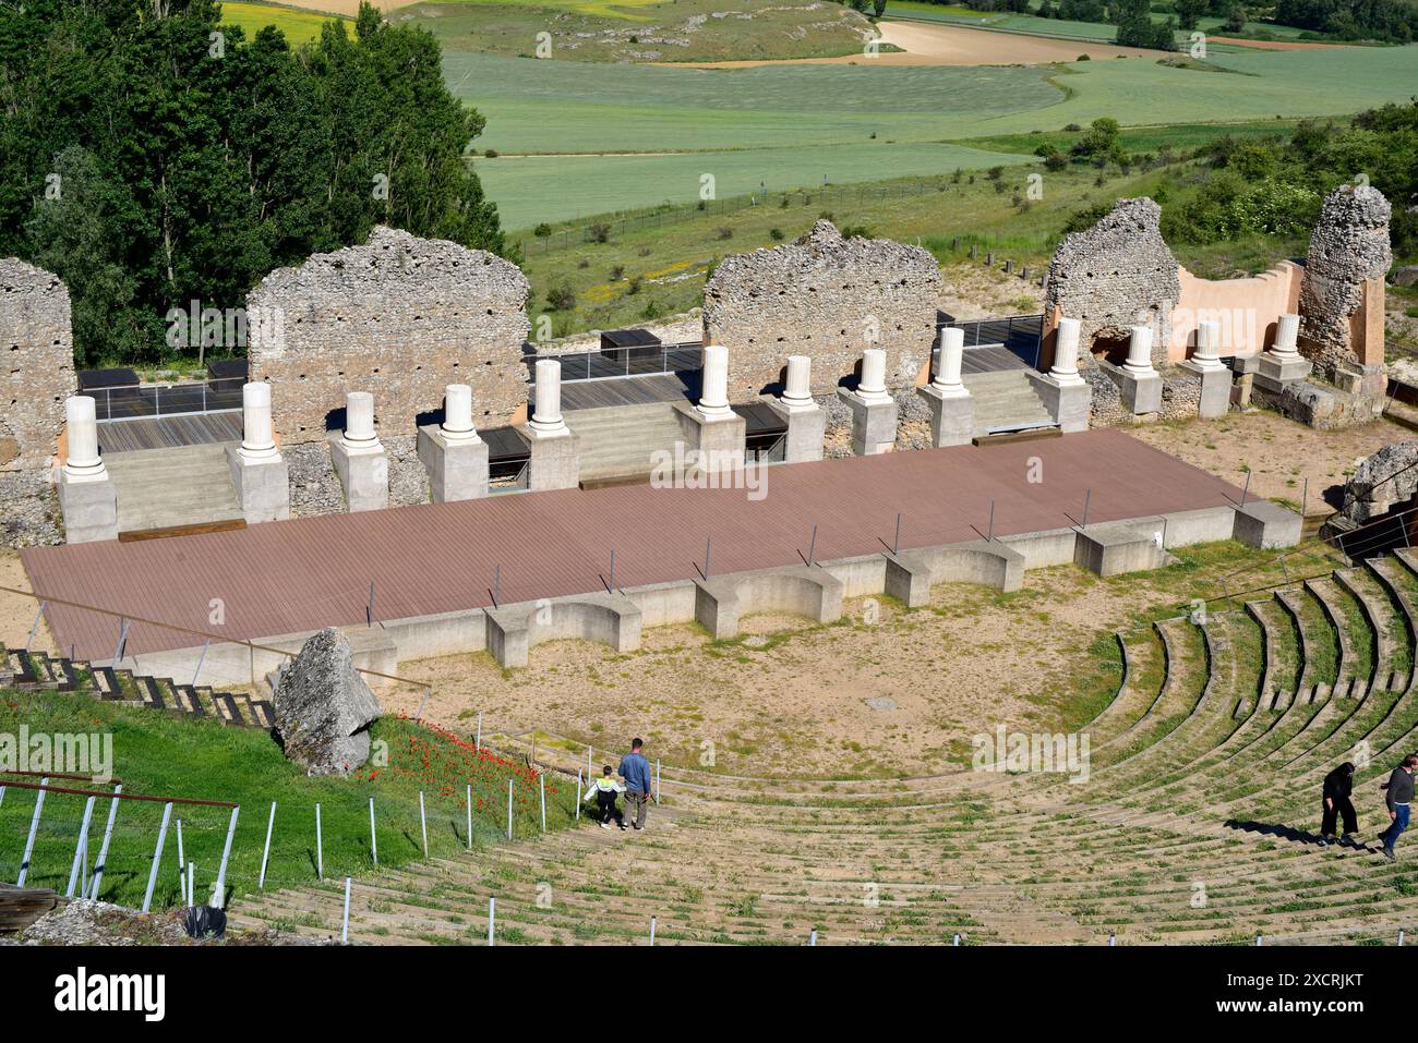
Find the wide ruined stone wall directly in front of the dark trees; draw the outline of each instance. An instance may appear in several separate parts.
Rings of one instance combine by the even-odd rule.
[[[386,444],[444,387],[471,384],[479,427],[526,402],[529,283],[482,249],[377,227],[363,247],[271,272],[248,295],[251,378],[275,385],[282,445],[323,442],[347,391],[370,391]]]

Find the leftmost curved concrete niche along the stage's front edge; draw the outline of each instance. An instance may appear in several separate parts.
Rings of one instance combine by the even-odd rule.
[[[615,652],[640,648],[641,612],[624,594],[581,594],[484,609],[488,650],[499,666],[527,665],[545,641],[583,638]]]

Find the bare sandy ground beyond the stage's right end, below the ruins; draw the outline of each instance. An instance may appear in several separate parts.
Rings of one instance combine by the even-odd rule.
[[[1309,514],[1324,513],[1324,497],[1332,507],[1339,506],[1344,480],[1364,456],[1392,442],[1418,439],[1418,434],[1383,419],[1346,431],[1314,431],[1265,411],[1156,424],[1133,434],[1238,486],[1245,486],[1249,470],[1251,492],[1266,499],[1299,504],[1309,479]]]

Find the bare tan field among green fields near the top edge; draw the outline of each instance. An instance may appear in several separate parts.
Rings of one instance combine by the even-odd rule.
[[[1090,58],[1156,57],[1154,51],[1136,47],[1116,47],[1090,40],[1046,40],[1017,33],[997,33],[964,26],[920,26],[905,21],[878,24],[882,43],[895,44],[898,51],[883,51],[875,57],[849,54],[841,58],[784,58],[778,61],[709,61],[657,62],[692,65],[705,69],[730,69],[750,65],[1045,65],[1075,61],[1081,54]]]

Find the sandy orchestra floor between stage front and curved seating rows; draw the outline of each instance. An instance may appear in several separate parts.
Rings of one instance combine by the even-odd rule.
[[[858,598],[841,625],[750,616],[749,636],[729,645],[658,626],[630,655],[564,641],[532,649],[525,670],[505,673],[484,653],[400,673],[432,683],[425,716],[459,733],[482,711],[485,734],[535,728],[591,743],[598,758],[644,734],[675,764],[702,762],[712,744],[730,774],[939,772],[995,724],[1051,721],[1061,663],[1156,599],[1149,580],[1120,595],[1069,567],[1031,573],[1007,605],[950,584],[936,588],[934,611]],[[413,693],[380,697],[415,709]]]

